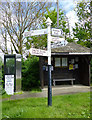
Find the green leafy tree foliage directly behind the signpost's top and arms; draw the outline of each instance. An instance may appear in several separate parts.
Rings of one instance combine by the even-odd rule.
[[[43,19],[41,20],[40,29],[47,28],[46,20],[50,18],[52,21],[51,27],[57,28],[57,11],[47,9],[47,12],[44,14]],[[70,38],[69,22],[68,18],[65,16],[64,11],[59,10],[59,28],[62,29],[62,35],[65,39]],[[31,47],[46,49],[47,47],[47,35],[39,35],[27,37],[26,47],[30,49]]]

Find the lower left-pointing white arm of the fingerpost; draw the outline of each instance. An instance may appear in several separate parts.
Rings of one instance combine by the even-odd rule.
[[[41,49],[36,49],[36,48],[31,48],[30,53],[31,53],[31,55],[48,56],[48,51],[41,50]]]

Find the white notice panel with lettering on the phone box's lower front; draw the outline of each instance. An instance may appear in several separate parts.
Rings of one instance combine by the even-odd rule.
[[[14,94],[14,75],[5,75],[5,91],[8,95]]]

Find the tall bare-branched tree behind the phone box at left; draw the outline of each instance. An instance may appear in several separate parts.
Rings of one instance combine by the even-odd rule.
[[[2,52],[8,54],[15,51],[22,55],[26,43],[23,33],[38,28],[41,17],[50,6],[51,3],[48,2],[2,2],[0,4]]]

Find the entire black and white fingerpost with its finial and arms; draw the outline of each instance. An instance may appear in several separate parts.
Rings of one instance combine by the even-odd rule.
[[[30,51],[31,55],[48,57],[48,106],[52,106],[51,41],[56,42],[56,41],[62,40],[62,38],[51,36],[51,31],[52,31],[53,36],[61,36],[62,35],[61,29],[56,29],[56,28],[51,29],[51,23],[52,23],[52,21],[48,17],[48,19],[46,20],[46,24],[48,27],[46,29],[31,30],[31,31],[27,31],[24,33],[24,37],[47,34],[47,50],[31,48],[29,51]]]

